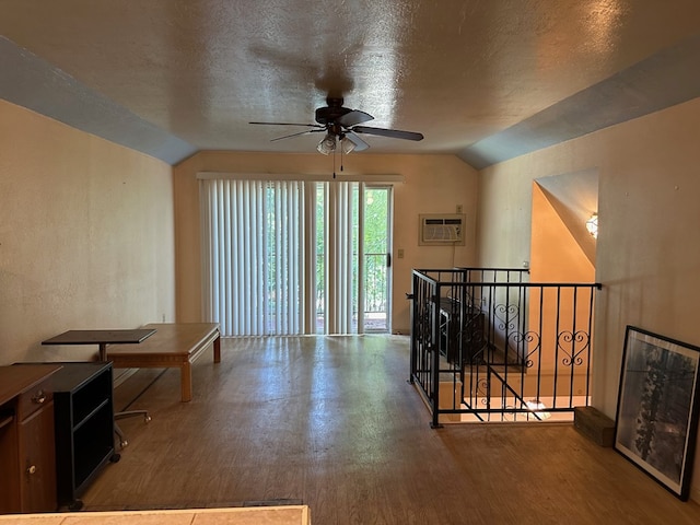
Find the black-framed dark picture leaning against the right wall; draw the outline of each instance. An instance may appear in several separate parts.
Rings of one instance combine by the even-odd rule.
[[[627,326],[615,450],[686,501],[698,434],[700,348]]]

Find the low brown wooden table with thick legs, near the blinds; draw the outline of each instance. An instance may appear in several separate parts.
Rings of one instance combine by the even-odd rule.
[[[192,398],[191,365],[213,343],[214,363],[221,362],[218,323],[153,323],[155,334],[140,345],[109,345],[107,359],[116,369],[180,370],[183,401]]]

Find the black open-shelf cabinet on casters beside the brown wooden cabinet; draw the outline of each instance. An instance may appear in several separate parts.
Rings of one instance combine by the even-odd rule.
[[[59,505],[80,509],[79,498],[114,448],[112,363],[61,363],[54,374],[56,485]]]

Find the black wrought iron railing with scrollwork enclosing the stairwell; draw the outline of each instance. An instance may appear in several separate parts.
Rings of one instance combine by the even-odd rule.
[[[527,279],[515,269],[413,270],[410,382],[434,427],[541,421],[588,404],[600,285]]]

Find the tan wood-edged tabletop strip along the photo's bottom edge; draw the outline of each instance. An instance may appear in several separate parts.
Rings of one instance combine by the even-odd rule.
[[[0,516],[0,525],[311,525],[306,505]]]

